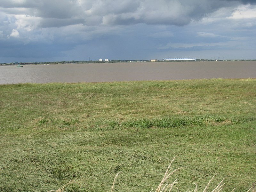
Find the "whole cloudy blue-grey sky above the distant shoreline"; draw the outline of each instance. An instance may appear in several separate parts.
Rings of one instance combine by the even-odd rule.
[[[0,63],[256,59],[256,0],[1,0]]]

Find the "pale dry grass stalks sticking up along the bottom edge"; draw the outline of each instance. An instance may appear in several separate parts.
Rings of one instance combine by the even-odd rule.
[[[172,159],[172,162],[174,161],[175,157]],[[161,180],[160,184],[158,185],[158,187],[156,188],[155,192],[171,192],[173,191],[173,189],[175,189],[175,191],[179,192],[179,188],[175,186],[175,184],[177,183],[178,179],[176,179],[175,181],[173,181],[172,183],[170,182],[166,182],[170,176],[180,170],[180,169],[183,169],[184,167],[180,167],[178,169],[175,169],[172,171],[172,168],[171,168],[171,165],[172,165],[172,162],[170,163],[170,165],[168,166],[165,174],[164,174],[164,177],[163,179]],[[115,182],[116,182],[116,178],[117,176],[121,173],[118,172],[114,178],[114,181],[113,181],[113,185],[112,185],[112,188],[111,188],[111,192],[114,192],[114,186],[115,186]],[[203,192],[206,192],[206,190],[209,188],[209,185],[211,183],[211,181],[213,180],[213,178],[216,176],[216,174],[212,177],[212,179],[208,182],[208,184],[206,185],[206,187],[204,188]],[[216,188],[214,188],[212,190],[212,192],[220,192],[223,190],[223,186],[225,183],[223,183],[223,181],[225,180],[226,177],[224,177],[220,183],[218,184],[218,186]],[[67,185],[70,185],[70,184],[73,184],[73,183],[77,183],[76,181],[72,181],[72,182],[69,182],[67,183],[66,185],[62,186],[61,188],[59,188],[58,190],[51,190],[51,191],[48,191],[48,192],[64,192],[64,187],[66,187]],[[188,189],[186,192],[197,192],[197,184],[195,183],[196,185],[196,188],[194,190],[190,190]],[[231,192],[235,192],[236,188],[234,188]],[[150,192],[153,192],[153,189],[150,191]],[[255,184],[247,191],[247,192],[256,192],[256,187],[255,187]]]

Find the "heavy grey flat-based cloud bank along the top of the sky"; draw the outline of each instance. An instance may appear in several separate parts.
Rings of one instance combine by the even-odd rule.
[[[40,17],[40,27],[60,27],[63,19],[84,25],[152,25],[183,26],[200,20],[222,7],[255,4],[252,0],[2,0],[2,12]],[[18,10],[17,8],[20,8]],[[55,19],[55,20],[51,20]],[[49,24],[47,24],[49,22]]]

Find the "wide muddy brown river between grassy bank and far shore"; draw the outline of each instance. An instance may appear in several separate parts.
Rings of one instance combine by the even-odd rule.
[[[125,62],[0,66],[0,84],[256,78],[256,61]]]

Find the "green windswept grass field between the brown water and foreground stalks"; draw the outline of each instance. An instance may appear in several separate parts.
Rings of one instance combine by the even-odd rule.
[[[256,79],[0,85],[0,191],[180,191],[256,181]],[[155,190],[154,190],[155,191]]]

